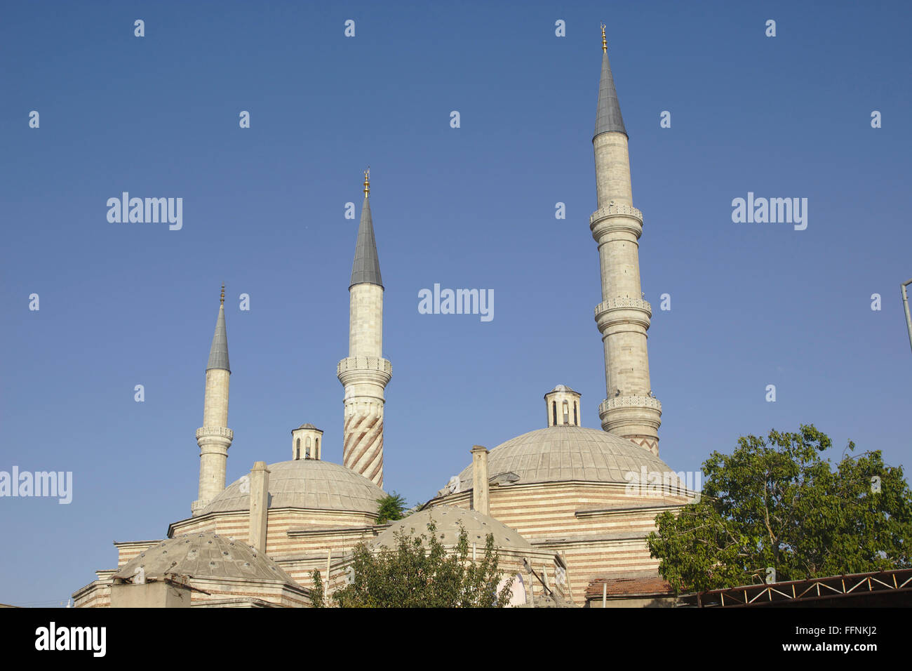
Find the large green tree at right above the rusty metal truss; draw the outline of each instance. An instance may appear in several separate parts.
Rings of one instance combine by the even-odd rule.
[[[676,592],[912,566],[912,491],[902,467],[879,450],[820,453],[830,438],[797,433],[742,436],[731,455],[703,464],[700,500],[656,518],[648,536],[659,574]],[[851,441],[848,452],[855,451]]]

